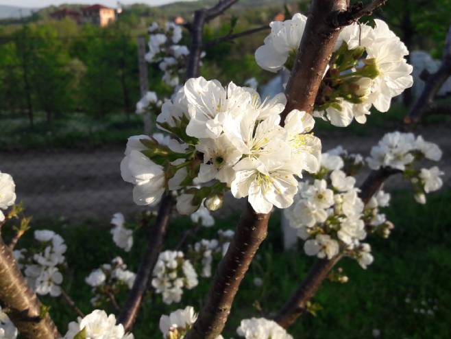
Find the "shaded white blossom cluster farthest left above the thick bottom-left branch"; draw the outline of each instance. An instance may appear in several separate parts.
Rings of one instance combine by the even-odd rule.
[[[14,257],[19,267],[23,268],[25,279],[34,292],[40,295],[61,294],[62,274],[60,269],[65,266],[67,246],[64,239],[57,233],[49,230],[34,231],[40,252],[32,250],[14,250]]]

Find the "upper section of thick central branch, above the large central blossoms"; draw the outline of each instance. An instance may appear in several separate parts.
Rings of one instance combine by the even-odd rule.
[[[344,12],[346,0],[314,0],[297,51],[295,64],[287,84],[287,106],[284,117],[293,109],[312,113],[319,85],[339,36],[339,28],[332,25],[331,14]]]

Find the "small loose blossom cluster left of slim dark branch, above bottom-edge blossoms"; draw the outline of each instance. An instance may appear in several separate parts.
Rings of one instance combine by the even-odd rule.
[[[131,289],[136,279],[136,274],[127,270],[121,257],[112,259],[111,264],[103,264],[90,272],[84,281],[90,285],[95,295],[91,299],[91,303],[95,306],[102,305],[106,301],[112,301],[112,296],[123,289]]]

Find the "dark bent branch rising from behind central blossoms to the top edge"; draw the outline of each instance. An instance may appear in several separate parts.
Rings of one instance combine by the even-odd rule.
[[[186,65],[186,80],[199,75],[200,56],[202,54],[202,34],[204,25],[215,17],[221,15],[238,0],[220,0],[212,8],[201,8],[194,12],[193,23],[188,25],[191,33],[191,46],[189,49],[188,63]]]

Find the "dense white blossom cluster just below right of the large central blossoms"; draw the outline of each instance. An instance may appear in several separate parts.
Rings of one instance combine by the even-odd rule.
[[[305,241],[307,255],[332,259],[344,253],[366,268],[373,261],[369,244],[363,242],[367,233],[388,237],[393,225],[379,209],[389,205],[389,194],[380,190],[365,206],[356,178],[343,170],[355,169],[362,161],[336,148],[321,155],[321,169],[312,181],[299,184],[295,204],[285,215]]]

